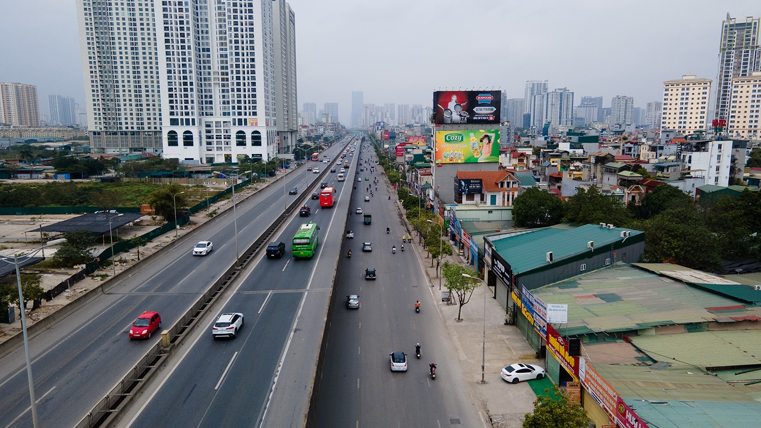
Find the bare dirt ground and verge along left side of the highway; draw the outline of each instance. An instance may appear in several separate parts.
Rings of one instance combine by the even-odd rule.
[[[295,170],[298,170],[298,168],[287,170],[287,173]],[[238,203],[240,203],[240,201],[243,199],[253,195],[267,185],[270,185],[274,180],[275,178],[269,178],[266,182],[249,185],[246,187],[246,189],[241,190],[240,192],[236,190],[235,199],[238,201]],[[216,211],[216,214],[220,214],[222,211],[231,207],[232,198],[227,198],[223,201],[218,201],[217,203],[212,204],[209,209],[199,211],[190,217],[189,223],[183,225],[183,227],[180,227],[180,229],[177,231],[177,238],[174,237],[174,233],[164,233],[164,235],[159,236],[145,246],[140,247],[140,258],[145,258],[148,255],[157,252],[159,249],[167,246],[167,244],[171,243],[175,239],[179,239],[184,234],[189,233],[196,227],[199,227],[199,225],[210,220],[212,217],[207,215],[209,214],[209,211]],[[21,255],[25,252],[29,252],[30,250],[39,248],[40,227],[55,224],[56,222],[72,217],[77,217],[77,215],[78,214],[0,216],[0,255],[10,257],[12,262],[12,257],[15,253],[19,253]],[[118,230],[114,229],[114,238],[116,239],[118,236],[120,239],[132,239],[135,236],[147,233],[149,230],[152,230],[161,224],[161,217],[156,219],[155,217],[151,218],[150,215],[145,215],[139,220],[135,220],[132,225],[119,227]],[[51,235],[44,236],[44,239],[47,241],[50,239],[57,239],[59,237],[60,236]],[[100,243],[97,244],[96,249],[94,249],[94,254],[99,254],[109,245],[109,236],[103,236],[103,238],[100,239]],[[55,252],[56,247],[50,247],[49,249],[45,249],[45,256],[49,257]],[[38,252],[37,256],[40,255],[42,255],[41,252]],[[116,265],[116,274],[119,274],[119,272],[126,270],[126,268],[129,268],[138,262],[137,258],[136,249],[132,249],[129,252],[117,254],[116,262],[114,263],[114,265]],[[42,279],[42,283],[40,285],[44,290],[50,290],[51,288],[56,287],[56,285],[60,284],[62,281],[65,281],[66,278],[70,277],[72,274],[75,274],[76,271],[78,271],[78,269],[74,267],[68,269],[61,268],[56,270],[43,270],[40,268],[35,268],[34,265],[21,269],[21,273],[40,274]],[[55,312],[57,309],[65,306],[72,300],[75,300],[78,298],[78,296],[87,293],[89,290],[92,290],[99,284],[102,284],[103,281],[107,281],[111,277],[113,277],[113,267],[108,266],[106,268],[100,268],[98,271],[94,272],[94,274],[88,275],[88,277],[84,278],[84,280],[78,281],[76,284],[72,285],[72,287],[69,287],[68,290],[65,290],[63,293],[59,294],[59,296],[56,296],[53,300],[49,302],[43,300],[42,306],[37,309],[30,310],[29,308],[31,308],[32,304],[27,303],[27,327],[35,322],[40,321],[40,319],[44,319],[46,316]],[[4,284],[15,285],[16,277],[14,274],[8,274],[0,281],[2,281]],[[10,325],[0,324],[0,343],[7,340],[11,335],[21,331],[21,319],[19,318],[18,307],[15,308],[14,312],[15,321],[13,323]]]

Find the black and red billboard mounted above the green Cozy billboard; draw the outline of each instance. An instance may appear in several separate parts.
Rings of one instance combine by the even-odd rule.
[[[437,90],[433,109],[437,125],[448,123],[499,123],[499,90]]]

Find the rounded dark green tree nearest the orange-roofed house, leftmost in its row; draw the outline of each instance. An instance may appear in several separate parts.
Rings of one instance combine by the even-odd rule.
[[[513,201],[516,227],[551,226],[560,223],[564,215],[564,202],[538,187],[526,189]]]

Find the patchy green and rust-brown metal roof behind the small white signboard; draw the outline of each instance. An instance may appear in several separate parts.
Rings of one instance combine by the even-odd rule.
[[[546,303],[568,304],[567,327],[571,335],[714,320],[738,322],[761,316],[761,307],[738,305],[737,300],[627,264],[598,269],[532,293]]]

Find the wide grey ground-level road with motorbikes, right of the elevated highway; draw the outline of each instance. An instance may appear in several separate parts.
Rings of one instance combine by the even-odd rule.
[[[355,238],[345,240],[342,253],[351,247],[355,255],[342,258],[336,277],[314,426],[486,426],[431,304],[431,293],[440,294],[428,287],[420,265],[430,259],[417,258],[409,244],[400,251],[406,230],[386,186],[379,185],[378,191],[369,202],[364,201],[370,195],[366,188],[352,198],[352,207],[371,212],[373,222],[364,226],[361,216],[354,215],[347,226]],[[363,241],[373,243],[372,252],[359,251]],[[365,281],[365,268],[375,268],[377,280]],[[346,309],[349,294],[360,296],[360,309]],[[422,303],[420,313],[414,310],[416,300]],[[422,346],[420,360],[416,343]],[[396,350],[407,353],[407,372],[390,371],[389,353]],[[438,366],[436,379],[428,376],[431,361]]]

